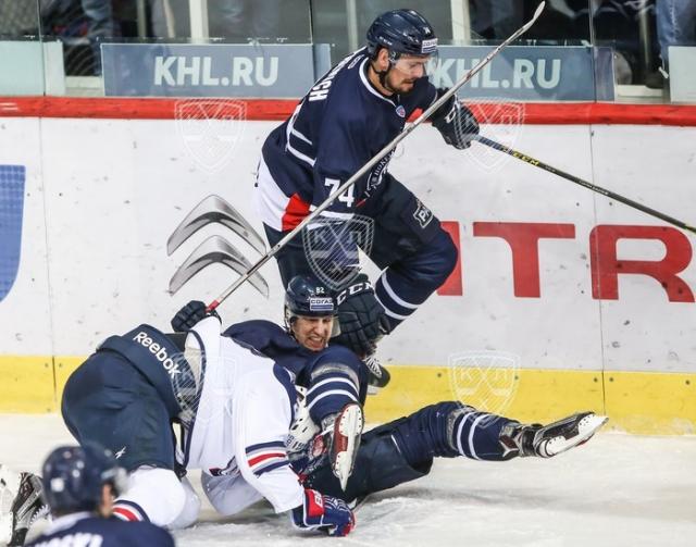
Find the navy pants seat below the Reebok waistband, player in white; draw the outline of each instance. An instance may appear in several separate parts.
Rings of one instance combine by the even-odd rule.
[[[174,469],[175,438],[154,387],[127,360],[98,351],[67,378],[61,412],[79,442],[96,442],[132,471]]]

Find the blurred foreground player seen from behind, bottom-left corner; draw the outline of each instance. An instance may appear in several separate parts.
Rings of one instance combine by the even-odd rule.
[[[28,546],[174,545],[170,533],[154,524],[126,523],[112,517],[113,497],[126,486],[126,472],[111,451],[97,444],[53,450],[44,463],[41,482],[52,522]]]

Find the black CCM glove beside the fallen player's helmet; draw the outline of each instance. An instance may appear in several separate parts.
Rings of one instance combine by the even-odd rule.
[[[355,351],[358,357],[373,353],[377,341],[389,332],[384,308],[374,296],[365,274],[336,297],[340,334],[331,339]]]

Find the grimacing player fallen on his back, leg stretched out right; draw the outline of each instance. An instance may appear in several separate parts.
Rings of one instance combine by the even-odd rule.
[[[277,325],[265,321],[233,325],[225,334],[239,336],[257,350],[296,371],[296,377],[301,377],[303,366],[308,366],[303,363],[321,355],[318,348],[325,346],[333,330],[334,320],[330,313],[311,309],[313,296],[324,294],[324,290],[319,282],[308,276],[296,276],[290,281],[285,316],[287,333],[293,339]],[[184,328],[204,314],[202,302],[189,302],[172,325]],[[301,351],[302,347],[308,351]],[[327,362],[333,369],[340,370],[341,359],[348,356],[345,348],[340,349],[340,352],[328,353],[332,359]],[[314,407],[319,397],[331,400],[347,394],[343,394],[345,385],[336,381],[323,386],[326,386],[325,390],[310,388],[307,391],[300,383],[298,410],[287,442],[289,457],[293,469],[303,477],[303,484],[347,502],[427,475],[436,457],[463,456],[489,461],[530,456],[550,458],[585,443],[606,422],[605,417],[580,412],[545,426],[530,425],[478,411],[460,401],[443,401],[362,434],[355,443],[352,458],[356,461],[350,468],[351,474],[341,484],[326,450],[327,431],[318,420]],[[323,386],[319,384],[320,388]],[[349,399],[341,399],[341,402]],[[219,481],[224,483],[225,478]]]

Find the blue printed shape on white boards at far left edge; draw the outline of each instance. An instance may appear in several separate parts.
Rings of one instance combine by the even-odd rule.
[[[0,301],[10,293],[20,268],[24,165],[0,165]]]

